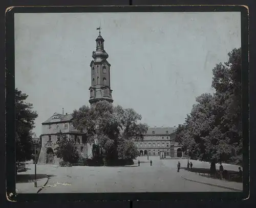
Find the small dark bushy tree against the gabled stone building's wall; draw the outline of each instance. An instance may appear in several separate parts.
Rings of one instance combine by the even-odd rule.
[[[63,160],[63,162],[67,163],[77,163],[79,159],[79,153],[75,146],[76,141],[74,138],[68,138],[66,134],[63,134],[61,131],[57,134],[57,147],[54,148],[54,154],[57,158]]]

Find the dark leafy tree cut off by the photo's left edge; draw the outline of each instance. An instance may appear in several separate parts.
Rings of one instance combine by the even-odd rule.
[[[15,145],[16,162],[25,162],[32,159],[34,134],[37,113],[33,111],[32,103],[26,102],[28,95],[15,89]]]

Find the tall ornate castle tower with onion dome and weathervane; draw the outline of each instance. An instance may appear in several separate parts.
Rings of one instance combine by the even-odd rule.
[[[100,100],[113,102],[110,88],[110,63],[106,60],[109,55],[104,50],[104,39],[100,35],[96,39],[96,51],[93,51],[91,61],[91,87],[89,102],[91,105]]]

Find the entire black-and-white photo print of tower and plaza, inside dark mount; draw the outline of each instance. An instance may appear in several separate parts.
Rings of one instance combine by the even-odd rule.
[[[16,193],[242,192],[240,12],[15,13]]]

